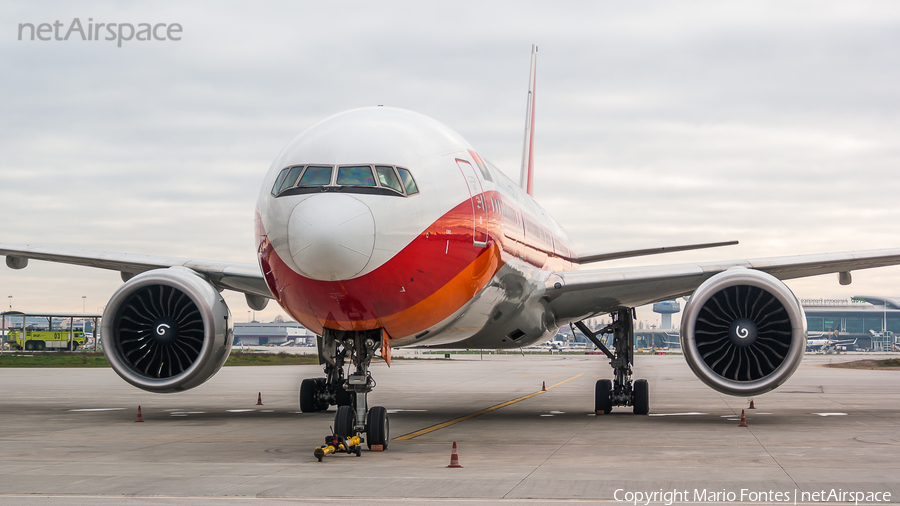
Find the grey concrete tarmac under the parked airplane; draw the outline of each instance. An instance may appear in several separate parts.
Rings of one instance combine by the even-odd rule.
[[[226,367],[167,395],[109,369],[0,369],[0,504],[898,502],[900,371],[822,366],[860,358],[876,357],[808,355],[749,410],[680,355],[637,356],[650,416],[592,413],[602,356],[394,360],[373,365],[369,396],[389,410],[388,450],[321,463],[334,410],[297,398],[318,366]],[[461,469],[446,467],[454,441]]]

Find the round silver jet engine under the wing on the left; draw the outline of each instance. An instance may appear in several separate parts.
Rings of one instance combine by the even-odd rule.
[[[219,292],[184,267],[139,274],[103,312],[103,352],[125,381],[150,392],[194,388],[231,353],[234,323]]]

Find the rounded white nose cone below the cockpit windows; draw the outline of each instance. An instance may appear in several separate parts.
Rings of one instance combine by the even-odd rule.
[[[314,195],[294,207],[288,245],[300,272],[320,281],[349,279],[362,272],[375,246],[375,218],[350,195]]]

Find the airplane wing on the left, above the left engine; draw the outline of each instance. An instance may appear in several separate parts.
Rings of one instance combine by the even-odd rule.
[[[211,262],[187,258],[109,253],[63,248],[42,248],[23,244],[0,243],[0,255],[6,256],[6,265],[21,269],[27,259],[45,260],[85,267],[96,267],[122,273],[128,279],[151,269],[164,269],[176,265],[187,267],[204,276],[217,288],[234,290],[244,294],[272,297],[263,275],[256,264]]]

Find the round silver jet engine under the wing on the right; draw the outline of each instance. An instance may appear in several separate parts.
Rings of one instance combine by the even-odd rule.
[[[733,267],[706,280],[681,318],[684,358],[719,392],[752,396],[779,387],[806,350],[806,314],[771,274]]]

